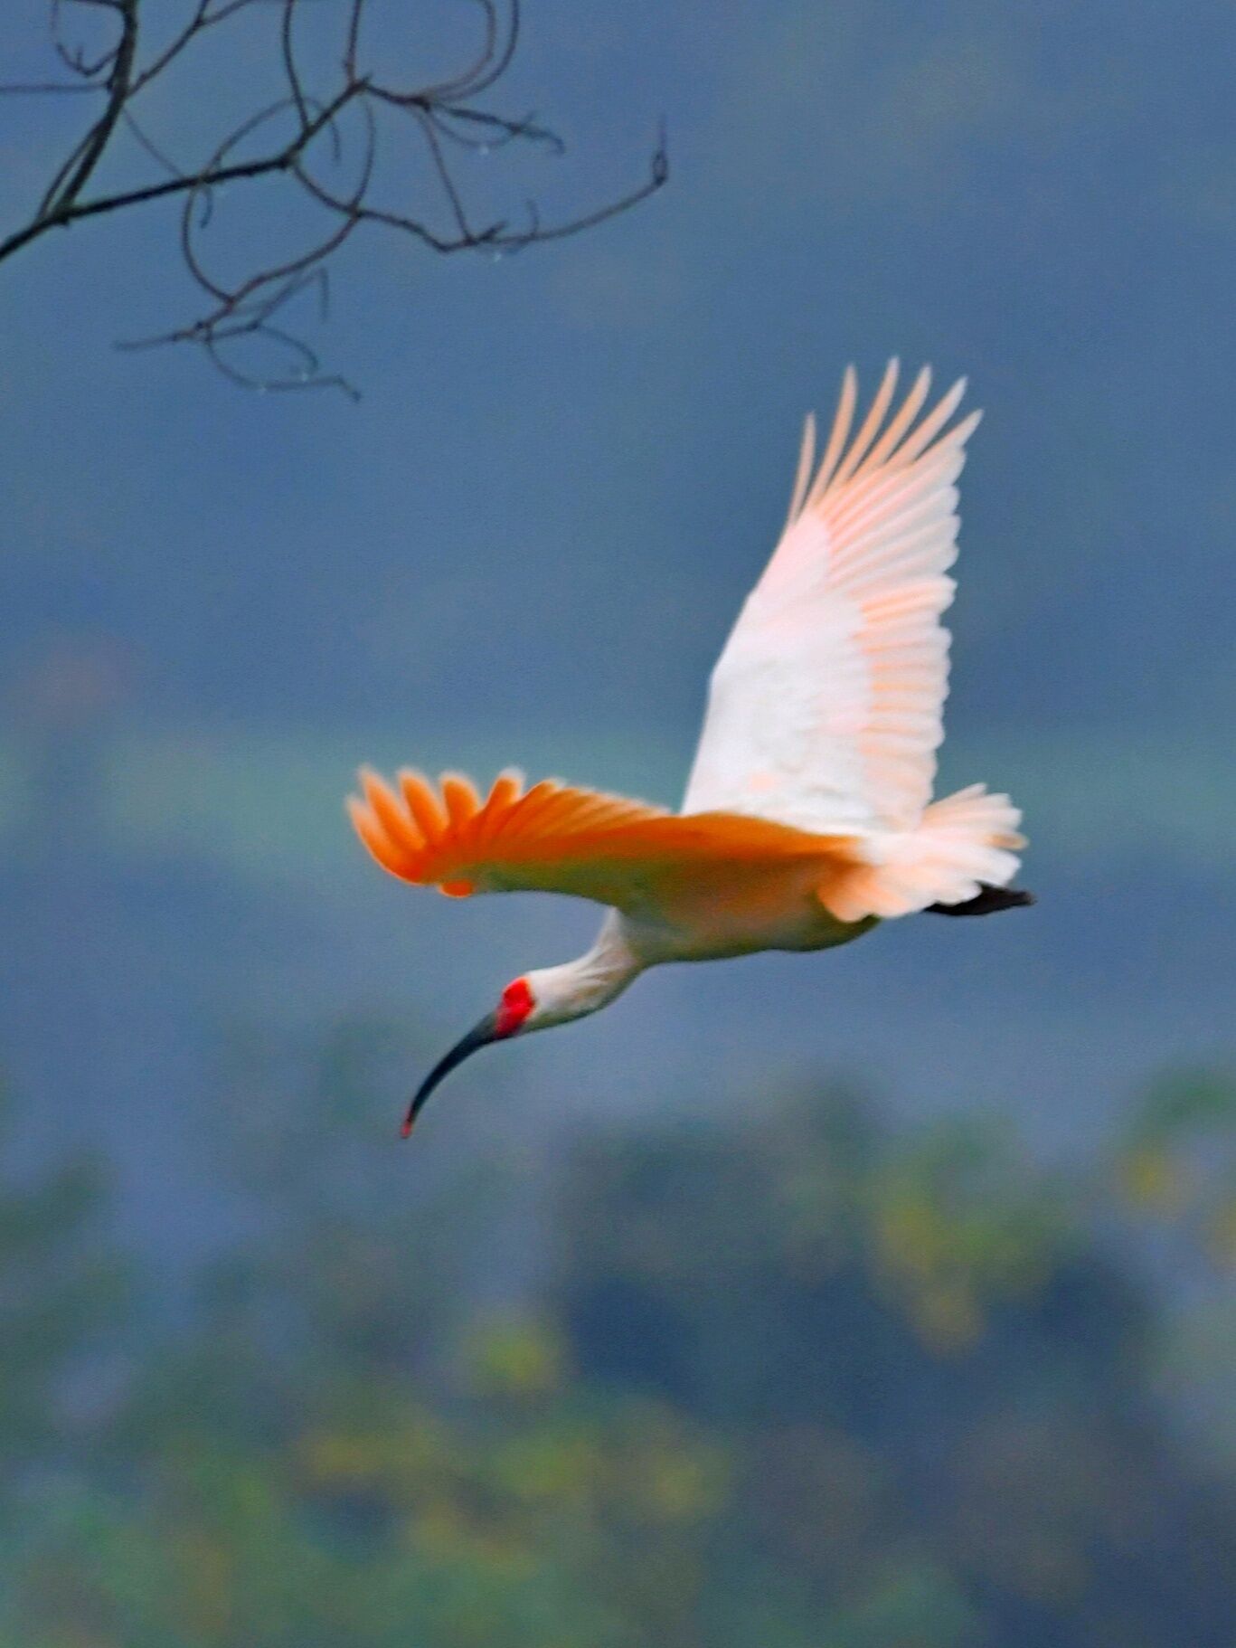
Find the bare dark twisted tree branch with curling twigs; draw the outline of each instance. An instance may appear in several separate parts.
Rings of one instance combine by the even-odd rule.
[[[160,0],[163,7],[166,0]],[[180,250],[185,269],[204,298],[201,313],[186,325],[124,348],[148,348],[158,343],[191,343],[229,379],[249,389],[336,387],[354,394],[351,384],[336,372],[321,369],[310,344],[287,330],[283,311],[297,298],[316,297],[320,318],[328,311],[328,260],[363,226],[402,232],[438,254],[488,252],[499,255],[522,247],[578,234],[608,218],[630,211],[656,193],[667,178],[664,132],[653,153],[649,171],[616,199],[562,222],[544,224],[534,203],[526,203],[524,227],[508,219],[478,226],[468,208],[468,190],[448,150],[491,152],[511,143],[539,147],[562,155],[562,138],[534,115],[511,117],[478,107],[476,99],[491,91],[509,68],[517,41],[519,0],[471,0],[481,13],[481,43],[463,71],[435,84],[399,86],[379,66],[361,68],[366,58],[368,0],[316,0],[315,21],[333,8],[338,38],[338,79],[330,94],[310,91],[302,66],[298,23],[307,16],[310,0],[186,0],[188,15],[178,31],[155,49],[142,51],[138,21],[155,15],[147,0],[49,0],[49,44],[61,64],[63,79],[31,81],[3,86],[8,96],[59,96],[63,92],[94,94],[102,109],[82,137],[54,168],[43,196],[25,224],[0,236],[0,262],[13,257],[53,229],[69,229],[91,218],[178,198]],[[460,0],[437,0],[438,5]],[[239,125],[224,130],[204,162],[181,165],[163,137],[152,135],[145,117],[138,120],[135,104],[145,91],[170,71],[191,76],[199,63],[196,51],[203,36],[221,25],[237,23],[259,12],[272,15],[272,71],[280,81],[280,96],[250,114]],[[147,13],[150,13],[147,16]],[[96,26],[87,33],[105,44],[87,49],[73,38],[73,20]],[[153,25],[152,25],[153,26]],[[110,35],[110,38],[107,38]],[[211,96],[204,82],[194,86],[199,102]],[[348,115],[344,120],[343,117]],[[359,115],[359,147],[356,117]],[[265,148],[260,137],[279,125],[288,130]],[[120,140],[125,138],[125,143]],[[328,145],[323,160],[333,168],[346,166],[354,183],[335,188],[323,181],[320,163],[311,153],[320,142]],[[379,198],[382,153],[392,140],[404,147],[412,142],[428,160],[440,191],[437,216],[448,227],[435,227],[432,203],[402,203]],[[259,152],[252,153],[254,143]],[[316,148],[315,148],[316,145]],[[110,193],[91,193],[91,183],[105,157],[122,155],[127,162],[153,165],[155,176]],[[460,158],[463,166],[465,160]],[[321,234],[305,249],[275,262],[252,257],[250,272],[224,280],[211,272],[201,244],[203,231],[213,219],[216,193],[224,185],[252,183],[260,178],[283,178],[315,211],[325,213]],[[280,216],[280,222],[283,218]],[[288,363],[274,374],[252,371],[239,351],[275,349]]]

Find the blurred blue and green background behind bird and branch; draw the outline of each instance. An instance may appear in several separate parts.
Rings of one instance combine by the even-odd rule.
[[[1231,1643],[1234,54],[527,0],[501,102],[570,148],[470,190],[587,209],[662,114],[671,183],[354,241],[359,404],[115,353],[191,303],[160,208],[0,267],[3,1648]],[[74,120],[0,102],[0,224]],[[674,803],[803,412],[892,353],[987,410],[943,783],[1040,905],[667,969],[399,1149],[595,915],[396,887],[354,766]]]

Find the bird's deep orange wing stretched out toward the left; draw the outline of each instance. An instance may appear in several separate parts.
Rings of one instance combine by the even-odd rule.
[[[399,775],[397,791],[361,773],[364,798],[349,798],[353,824],[392,875],[470,893],[550,892],[592,898],[638,915],[664,911],[674,893],[732,890],[743,872],[763,873],[789,857],[844,857],[821,840],[766,819],[733,814],[681,817],[664,808],[544,780],[524,789],[501,773],[481,799],[470,780],[445,773],[440,789],[420,773]]]

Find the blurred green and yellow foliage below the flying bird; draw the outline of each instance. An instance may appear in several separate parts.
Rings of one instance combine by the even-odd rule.
[[[1221,1081],[1157,1084],[1086,1170],[753,1093],[545,1193],[501,1144],[379,1144],[387,1058],[381,1025],[237,1045],[249,1216],[175,1328],[87,1167],[10,1175],[0,1648],[1229,1641],[1236,1498],[1160,1388],[1183,1318],[1129,1173],[1167,1152],[1216,1205]],[[499,1299],[532,1190],[550,1252]],[[1229,1254],[1188,1206],[1205,1292]]]

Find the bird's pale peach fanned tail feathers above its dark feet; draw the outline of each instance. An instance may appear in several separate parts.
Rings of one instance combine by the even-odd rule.
[[[864,842],[864,859],[821,888],[821,901],[840,921],[962,905],[982,887],[1007,887],[1017,875],[1017,850],[1025,847],[1020,822],[1009,796],[971,784],[933,801],[913,831]]]

